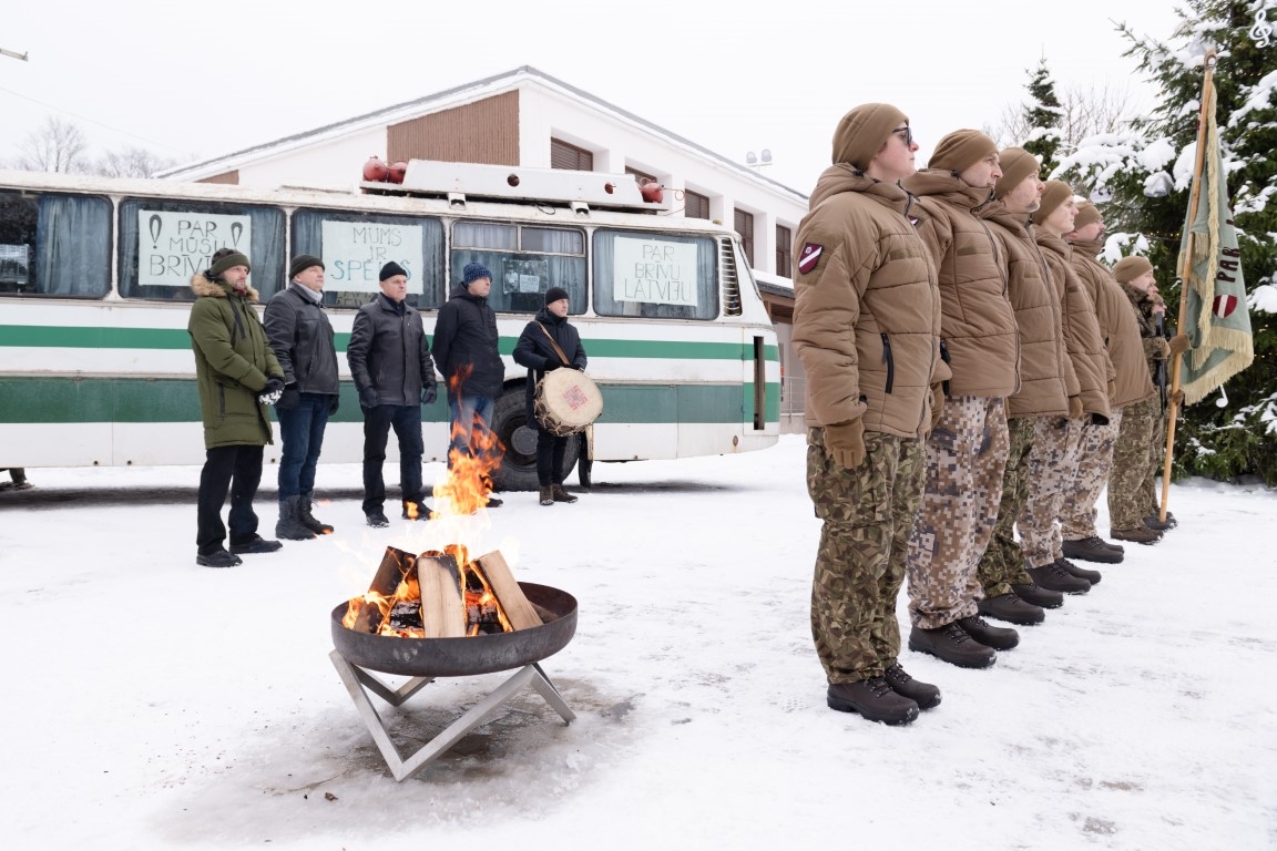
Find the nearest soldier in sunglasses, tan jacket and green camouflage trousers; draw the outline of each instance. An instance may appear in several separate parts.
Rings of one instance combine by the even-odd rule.
[[[908,723],[940,689],[899,662],[895,603],[922,490],[922,439],[949,369],[935,268],[899,180],[909,121],[858,106],[794,239],[793,342],[807,374],[807,487],[822,521],[811,630],[830,708]]]

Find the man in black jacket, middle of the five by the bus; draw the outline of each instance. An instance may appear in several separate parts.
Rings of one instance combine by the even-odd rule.
[[[421,487],[421,406],[433,404],[438,393],[421,314],[405,301],[407,272],[398,263],[387,263],[381,287],[381,295],[355,314],[346,347],[364,411],[364,517],[374,528],[389,524],[382,510],[382,467],[392,426],[400,447],[404,518],[430,519]]]

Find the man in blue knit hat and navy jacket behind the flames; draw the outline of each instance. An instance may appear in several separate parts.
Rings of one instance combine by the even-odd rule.
[[[492,452],[492,410],[506,380],[497,350],[497,314],[488,306],[492,272],[481,263],[467,263],[461,274],[461,286],[439,309],[432,347],[448,387],[450,468],[456,457]],[[499,499],[488,496],[488,508],[498,505]]]

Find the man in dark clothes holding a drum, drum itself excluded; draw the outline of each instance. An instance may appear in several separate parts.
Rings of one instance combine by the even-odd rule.
[[[515,344],[515,362],[527,367],[527,426],[536,430],[536,481],[541,505],[575,503],[576,496],[563,490],[563,455],[568,438],[549,431],[536,417],[536,384],[547,373],[561,367],[585,370],[585,348],[581,334],[568,324],[571,306],[567,290],[550,287],[545,306],[536,319],[527,323]]]

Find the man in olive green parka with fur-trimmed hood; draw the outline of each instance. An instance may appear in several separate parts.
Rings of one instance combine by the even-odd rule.
[[[266,406],[283,390],[283,370],[253,310],[257,290],[248,286],[248,258],[218,249],[207,272],[190,279],[190,348],[204,422],[207,457],[199,473],[199,529],[195,564],[232,568],[239,554],[273,552],[278,541],[257,533],[253,496],[262,481],[262,448],[273,443]],[[234,481],[234,484],[232,484]],[[222,546],[222,505],[231,494],[230,552]]]

